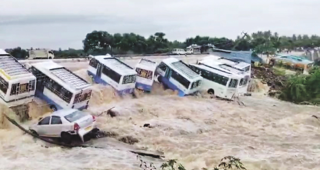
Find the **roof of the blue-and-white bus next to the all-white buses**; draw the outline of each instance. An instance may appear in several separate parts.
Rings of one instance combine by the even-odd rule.
[[[179,72],[180,74],[186,75],[187,78],[194,79],[197,77],[201,77],[200,74],[196,73],[191,68],[189,68],[187,64],[176,58],[170,57],[162,60],[162,62],[170,66],[171,68],[176,69],[175,71]]]

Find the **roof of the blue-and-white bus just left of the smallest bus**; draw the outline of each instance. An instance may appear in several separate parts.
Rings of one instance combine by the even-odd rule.
[[[106,56],[94,56],[94,58],[102,63],[103,65],[107,66],[108,68],[111,68],[118,72],[121,75],[131,75],[136,74],[135,70],[125,64],[124,62],[120,61],[119,59],[115,57],[111,57],[110,55]]]

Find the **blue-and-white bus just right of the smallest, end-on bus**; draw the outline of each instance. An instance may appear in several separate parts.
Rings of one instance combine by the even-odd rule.
[[[191,95],[199,91],[202,77],[187,64],[176,58],[162,60],[156,70],[158,81],[166,88],[177,90],[179,96]]]

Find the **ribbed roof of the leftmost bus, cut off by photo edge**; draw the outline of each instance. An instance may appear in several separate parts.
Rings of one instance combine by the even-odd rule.
[[[10,54],[0,49],[0,69],[8,76],[18,76],[21,74],[32,74],[27,68],[18,62]]]

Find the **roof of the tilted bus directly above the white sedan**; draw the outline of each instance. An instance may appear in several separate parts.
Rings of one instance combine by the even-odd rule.
[[[86,80],[53,61],[34,63],[31,65],[62,85],[64,88],[64,85],[73,89],[83,89],[91,86],[91,84]]]

